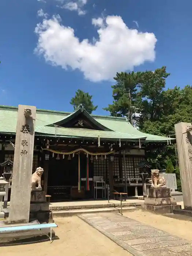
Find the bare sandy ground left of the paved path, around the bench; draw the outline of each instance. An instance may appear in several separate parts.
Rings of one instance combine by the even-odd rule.
[[[112,242],[99,231],[89,226],[77,216],[55,218],[60,238],[37,244],[1,247],[0,255],[6,256],[131,256],[130,253]]]

